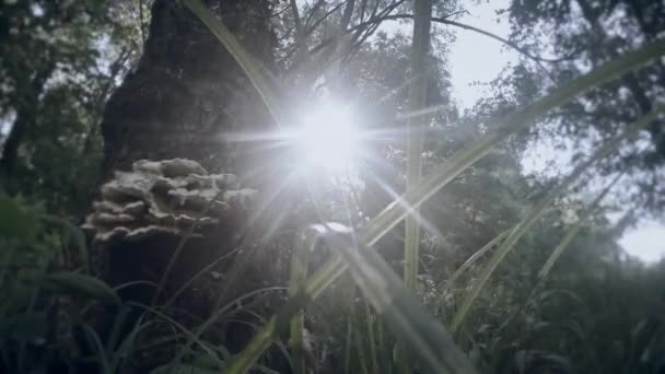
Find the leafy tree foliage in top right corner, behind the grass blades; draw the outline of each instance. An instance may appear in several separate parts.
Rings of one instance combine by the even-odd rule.
[[[506,13],[513,25],[512,40],[527,46],[534,55],[556,54],[553,62],[538,65],[525,59],[499,82],[497,90],[512,91],[518,104],[541,95],[551,85],[578,79],[622,51],[649,42],[663,43],[665,27],[662,1],[513,1]],[[556,141],[553,132],[560,136],[558,139],[574,140],[575,144],[597,143],[660,102],[664,72],[663,60],[653,60],[640,71],[596,87],[550,113],[544,125],[557,125],[535,128],[534,137]],[[631,152],[615,155],[602,168],[610,173],[632,163],[631,167],[641,170],[632,177],[639,188],[626,201],[656,212],[664,203],[663,186],[656,176],[665,161],[662,128],[662,121],[648,128],[652,147],[627,145]]]

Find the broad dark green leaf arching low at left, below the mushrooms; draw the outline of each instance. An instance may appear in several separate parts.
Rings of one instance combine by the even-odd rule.
[[[118,294],[98,278],[72,271],[62,271],[38,277],[42,285],[51,291],[84,295],[106,304],[119,305]]]

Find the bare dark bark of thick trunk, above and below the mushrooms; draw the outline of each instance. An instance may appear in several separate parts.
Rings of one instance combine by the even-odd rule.
[[[270,27],[270,1],[208,0],[207,4],[256,60],[271,70],[275,35]],[[245,180],[253,172],[249,168],[256,166],[247,162],[249,153],[255,160],[260,154],[253,151],[256,147],[228,141],[226,136],[270,128],[260,96],[210,31],[178,1],[154,0],[143,55],[137,69],[109,97],[104,112],[103,175],[108,180],[118,171],[130,171],[140,160],[189,159],[209,172],[233,173]],[[246,182],[243,185],[247,187]],[[244,217],[231,219],[243,221]],[[174,262],[171,290],[236,248],[240,227],[243,222],[235,222],[209,230],[200,239],[188,241]],[[180,238],[160,236],[104,247],[97,243],[93,246],[93,256],[97,255],[93,268],[114,285],[145,279],[158,283]],[[247,274],[243,277],[245,281]],[[252,282],[256,280],[245,284]],[[148,294],[145,291],[127,291],[122,296],[150,303],[154,289]],[[182,299],[196,304],[190,291]],[[214,305],[208,299],[203,306],[183,306],[205,319]],[[234,336],[232,344],[241,346],[246,338]],[[241,347],[226,348],[233,351]]]

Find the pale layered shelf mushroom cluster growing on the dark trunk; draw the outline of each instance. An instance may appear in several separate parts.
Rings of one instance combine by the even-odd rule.
[[[196,161],[141,160],[102,186],[83,229],[102,245],[179,236],[192,225],[197,237],[250,209],[256,192],[240,188],[235,175],[209,174]]]

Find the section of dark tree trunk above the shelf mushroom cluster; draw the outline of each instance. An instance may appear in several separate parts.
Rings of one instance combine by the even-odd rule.
[[[209,8],[266,68],[273,34],[267,0],[209,0]],[[102,125],[104,171],[141,160],[186,157],[209,171],[236,171],[224,135],[259,130],[269,117],[244,72],[184,5],[155,0],[138,68],[109,98]]]

